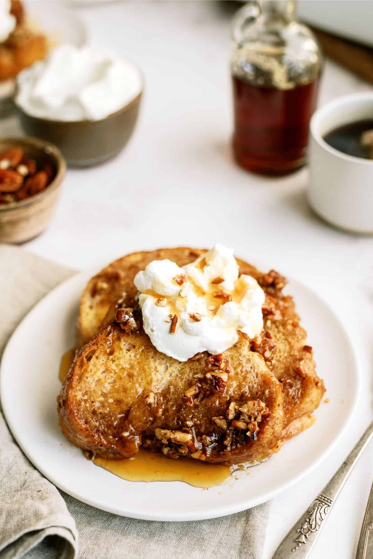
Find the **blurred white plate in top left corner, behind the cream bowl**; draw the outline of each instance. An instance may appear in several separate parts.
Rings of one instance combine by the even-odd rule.
[[[25,2],[26,19],[45,34],[52,45],[69,42],[83,46],[87,42],[87,32],[79,17],[59,2],[45,0],[27,0]],[[6,101],[15,92],[15,79],[0,81],[0,101],[2,110],[9,106]]]

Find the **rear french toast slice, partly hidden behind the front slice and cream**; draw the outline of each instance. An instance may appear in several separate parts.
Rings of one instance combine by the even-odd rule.
[[[136,252],[103,268],[89,280],[81,298],[78,347],[89,342],[101,328],[115,319],[119,301],[124,307],[136,305],[133,280],[136,273],[149,262],[168,258],[178,266],[185,266],[205,252],[186,247]],[[285,413],[283,436],[289,438],[312,424],[311,414],[323,397],[324,383],[317,376],[312,348],[306,344],[306,331],[300,326],[294,301],[282,293],[286,279],[276,272],[263,273],[239,258],[236,260],[239,273],[254,277],[266,293],[263,305],[265,331],[262,333],[263,347],[259,351],[264,354],[268,368],[282,384]]]

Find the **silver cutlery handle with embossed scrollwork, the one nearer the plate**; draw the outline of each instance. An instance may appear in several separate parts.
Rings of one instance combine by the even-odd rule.
[[[362,435],[355,448],[348,454],[339,470],[310,504],[305,513],[294,524],[280,543],[272,559],[305,559],[309,556],[317,538],[324,527],[330,509],[337,500],[342,487],[356,465],[373,435],[373,421]]]

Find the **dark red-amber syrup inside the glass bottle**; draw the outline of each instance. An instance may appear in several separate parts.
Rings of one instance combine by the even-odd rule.
[[[240,167],[284,174],[304,165],[318,87],[318,78],[284,90],[233,77],[233,153]]]

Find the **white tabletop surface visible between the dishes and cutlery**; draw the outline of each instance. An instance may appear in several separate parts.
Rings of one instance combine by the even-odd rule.
[[[233,3],[81,4],[74,10],[87,25],[89,42],[128,56],[143,70],[140,119],[115,160],[68,171],[53,223],[25,248],[82,269],[134,250],[210,247],[219,240],[251,262],[268,262],[322,290],[356,345],[363,377],[358,413],[333,456],[273,500],[264,554],[270,558],[372,416],[373,238],[332,229],[313,214],[305,198],[307,169],[268,179],[233,163]],[[320,104],[370,89],[328,61]],[[8,132],[6,122],[0,126],[3,135]],[[330,513],[313,559],[355,556],[372,463],[373,444]]]

